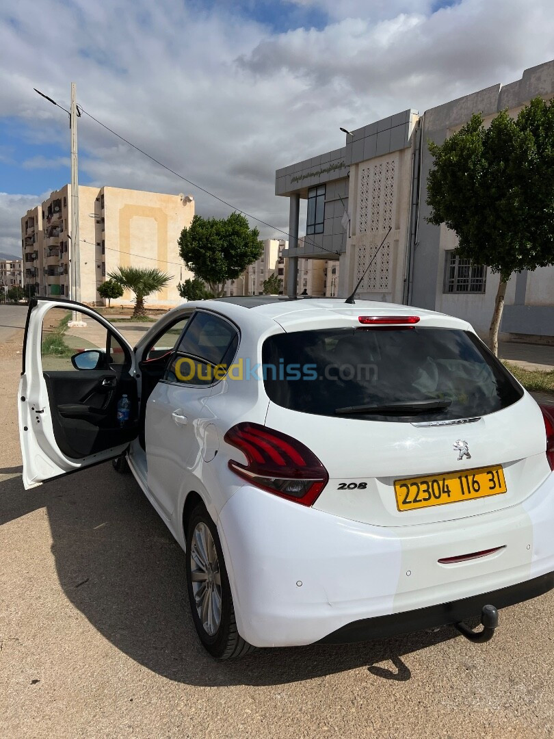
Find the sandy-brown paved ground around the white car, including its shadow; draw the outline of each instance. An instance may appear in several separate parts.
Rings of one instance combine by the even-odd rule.
[[[0,347],[2,739],[554,735],[553,593],[503,610],[488,644],[446,628],[213,661],[184,555],[130,475],[24,491],[18,351]]]

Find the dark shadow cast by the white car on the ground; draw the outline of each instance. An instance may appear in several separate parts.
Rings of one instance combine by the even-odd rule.
[[[0,482],[0,525],[43,507],[58,579],[70,602],[114,647],[177,682],[275,685],[357,667],[377,678],[406,681],[411,673],[403,655],[457,635],[445,627],[363,644],[256,650],[219,663],[194,631],[185,555],[131,474],[117,474],[106,463],[30,491],[20,477]],[[377,667],[384,661],[396,671]]]

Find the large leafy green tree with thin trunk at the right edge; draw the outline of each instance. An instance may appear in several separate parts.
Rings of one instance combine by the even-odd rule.
[[[459,256],[500,274],[489,333],[497,355],[510,275],[554,263],[553,102],[535,98],[515,120],[503,111],[488,128],[473,115],[428,146],[428,222],[456,233]]]

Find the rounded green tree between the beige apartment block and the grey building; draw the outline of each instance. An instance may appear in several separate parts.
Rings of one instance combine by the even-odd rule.
[[[187,269],[208,285],[217,298],[225,282],[236,279],[263,252],[257,228],[250,228],[239,213],[228,218],[194,216],[189,228],[179,236],[179,253]]]

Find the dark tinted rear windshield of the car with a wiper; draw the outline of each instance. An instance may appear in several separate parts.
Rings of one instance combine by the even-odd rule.
[[[264,386],[279,406],[315,415],[422,422],[487,415],[521,398],[473,334],[444,328],[278,334],[262,347]]]

